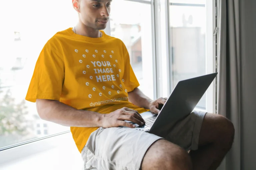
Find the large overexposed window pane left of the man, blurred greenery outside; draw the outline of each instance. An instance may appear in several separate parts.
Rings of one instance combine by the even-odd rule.
[[[44,44],[75,26],[78,18],[70,0],[37,1],[33,8],[28,1],[14,0],[9,13],[1,1],[0,148],[69,130],[41,120],[36,105],[24,99]]]

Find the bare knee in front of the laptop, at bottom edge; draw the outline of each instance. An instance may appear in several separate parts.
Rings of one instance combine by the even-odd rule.
[[[159,139],[147,150],[142,170],[192,170],[188,153],[165,139]]]

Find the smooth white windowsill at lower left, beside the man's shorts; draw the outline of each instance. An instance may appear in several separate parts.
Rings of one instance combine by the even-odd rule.
[[[0,169],[83,169],[71,132],[3,150],[0,157]]]

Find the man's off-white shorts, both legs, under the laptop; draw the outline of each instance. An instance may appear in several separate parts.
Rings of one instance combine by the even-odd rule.
[[[205,114],[192,112],[164,138],[186,150],[196,150]],[[133,128],[98,128],[81,153],[85,170],[139,170],[147,149],[158,139],[162,137]]]

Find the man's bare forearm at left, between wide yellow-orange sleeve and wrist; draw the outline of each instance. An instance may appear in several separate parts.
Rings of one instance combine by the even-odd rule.
[[[68,127],[101,127],[104,117],[104,114],[77,110],[55,100],[37,99],[36,107],[41,119]]]

